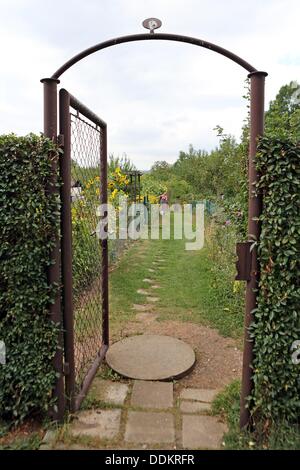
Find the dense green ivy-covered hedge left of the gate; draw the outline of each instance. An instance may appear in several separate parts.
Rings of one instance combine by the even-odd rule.
[[[48,409],[55,380],[48,308],[56,287],[46,272],[59,222],[59,201],[49,194],[58,156],[42,136],[0,136],[0,417],[15,422]]]

